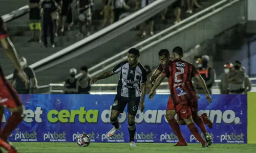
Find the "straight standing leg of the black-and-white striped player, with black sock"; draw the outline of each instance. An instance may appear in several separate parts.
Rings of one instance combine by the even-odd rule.
[[[135,117],[138,111],[138,106],[140,103],[140,97],[136,97],[128,102],[127,105],[127,112],[128,112],[128,131],[130,136],[130,146],[136,147],[134,142],[134,137],[136,133],[136,124],[135,124]]]

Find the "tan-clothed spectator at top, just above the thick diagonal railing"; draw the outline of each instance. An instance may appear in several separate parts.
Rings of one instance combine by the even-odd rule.
[[[104,0],[104,8],[101,14],[103,14],[102,28],[105,27],[106,20],[110,19],[110,24],[114,22],[114,12],[112,9],[112,0]]]

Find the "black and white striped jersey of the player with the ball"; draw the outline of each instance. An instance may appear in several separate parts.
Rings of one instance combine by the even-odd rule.
[[[117,85],[117,95],[127,98],[141,96],[140,84],[146,83],[146,69],[138,63],[136,67],[131,67],[128,61],[119,63],[112,69],[112,72],[120,73],[120,80]]]

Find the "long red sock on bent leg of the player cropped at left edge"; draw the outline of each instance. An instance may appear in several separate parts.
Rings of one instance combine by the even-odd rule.
[[[17,127],[17,125],[22,122],[22,115],[18,112],[12,113],[9,117],[3,131],[0,134],[0,137],[4,140],[7,140],[11,132]]]

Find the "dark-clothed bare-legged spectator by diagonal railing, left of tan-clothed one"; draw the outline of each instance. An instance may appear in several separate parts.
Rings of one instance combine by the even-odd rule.
[[[79,33],[77,36],[84,36],[83,27],[84,29],[87,27],[87,36],[90,36],[91,33],[91,23],[92,23],[92,11],[91,11],[91,4],[92,0],[78,0],[77,1],[77,8],[78,8],[78,27]]]

